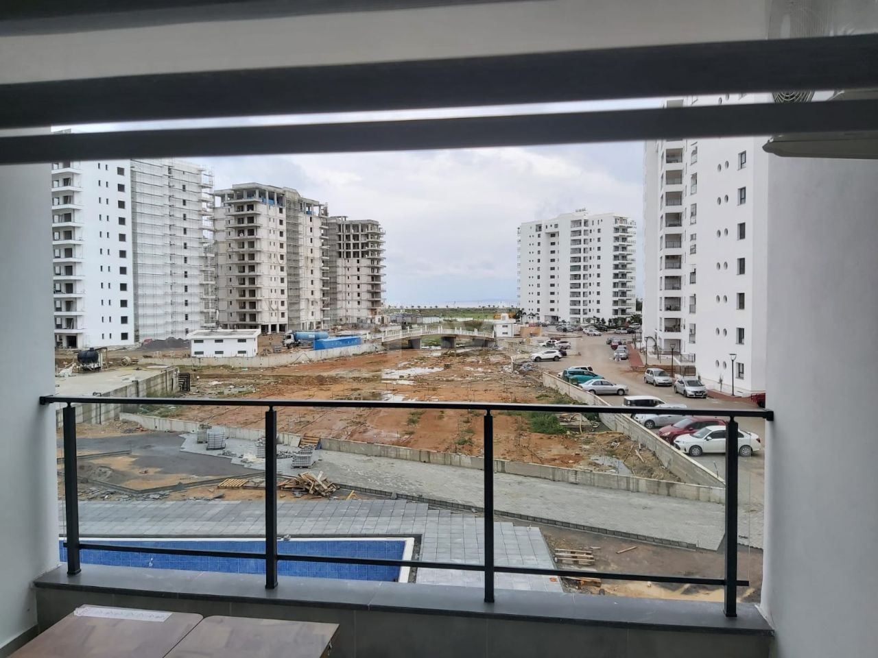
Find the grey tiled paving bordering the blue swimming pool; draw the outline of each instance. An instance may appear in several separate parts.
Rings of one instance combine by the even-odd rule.
[[[58,505],[61,533],[64,505]],[[79,526],[83,537],[262,537],[262,501],[83,501]],[[498,564],[553,569],[549,547],[539,528],[494,523],[494,556]],[[485,526],[471,513],[431,510],[405,500],[281,501],[277,504],[279,537],[414,536],[420,540],[415,560],[481,562]],[[419,554],[420,553],[420,554]],[[84,569],[84,568],[83,568]],[[417,583],[481,586],[478,571],[418,569]],[[507,590],[560,591],[557,579],[528,574],[496,574]]]

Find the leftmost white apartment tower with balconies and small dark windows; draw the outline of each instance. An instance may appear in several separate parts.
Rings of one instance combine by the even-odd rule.
[[[55,347],[132,345],[131,163],[52,163]]]

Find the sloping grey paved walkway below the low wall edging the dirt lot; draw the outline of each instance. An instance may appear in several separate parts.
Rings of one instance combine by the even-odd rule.
[[[473,507],[484,504],[479,470],[327,450],[318,454],[320,461],[313,470],[322,470],[336,483]],[[500,473],[494,475],[494,500],[498,513],[509,511],[525,517],[682,541],[712,550],[723,540],[724,508],[719,504]],[[760,546],[761,532],[759,535]]]

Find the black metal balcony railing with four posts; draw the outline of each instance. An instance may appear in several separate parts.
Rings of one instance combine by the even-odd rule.
[[[494,575],[531,574],[536,576],[581,577],[576,569],[542,569],[536,567],[498,565],[494,561],[494,496],[493,468],[484,469],[483,491],[485,496],[485,560],[473,562],[434,562],[415,560],[388,560],[381,558],[293,555],[277,552],[277,407],[341,407],[380,409],[436,409],[460,411],[484,411],[485,463],[493,464],[493,416],[492,411],[542,411],[550,413],[653,413],[651,407],[603,406],[593,404],[515,404],[493,402],[419,402],[379,400],[269,400],[254,398],[185,398],[185,397],[91,397],[91,396],[44,396],[40,404],[66,404],[61,412],[63,423],[64,507],[66,513],[67,572],[74,576],[81,570],[80,553],[83,550],[118,551],[122,553],[152,553],[193,555],[224,558],[262,559],[265,561],[265,587],[277,587],[278,561],[334,562],[339,564],[365,564],[386,567],[414,567],[419,569],[457,569],[481,571],[485,574],[485,601],[493,603]],[[136,547],[112,543],[81,541],[79,535],[79,502],[76,476],[76,407],[74,404],[170,404],[191,406],[258,406],[265,411],[265,551],[202,550],[195,548]],[[736,594],[738,587],[750,583],[738,578],[738,421],[736,418],[765,418],[772,420],[774,412],[768,409],[687,409],[694,416],[724,416],[729,418],[726,426],[725,461],[725,556],[723,576],[718,578],[697,576],[674,576],[659,574],[620,573],[589,571],[587,575],[607,580],[651,581],[654,583],[687,583],[714,585],[724,588],[724,612],[727,617],[737,616]]]

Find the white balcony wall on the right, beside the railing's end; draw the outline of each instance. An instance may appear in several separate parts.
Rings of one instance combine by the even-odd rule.
[[[769,182],[762,607],[778,658],[873,656],[878,162],[773,158]]]

